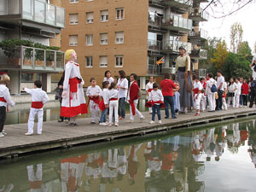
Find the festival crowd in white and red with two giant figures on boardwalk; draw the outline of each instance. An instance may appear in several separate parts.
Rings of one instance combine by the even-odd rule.
[[[130,74],[130,83],[126,79],[124,70],[119,71],[119,78],[113,79],[110,71],[105,72],[102,81],[102,88],[97,85],[96,78],[90,78],[90,86],[86,90],[88,102],[84,96],[84,79],[79,70],[79,64],[76,63],[77,54],[73,49],[68,49],[65,53],[67,64],[65,72],[58,84],[59,91],[57,96],[61,102],[61,115],[59,122],[65,121],[68,125],[77,125],[76,119],[79,114],[88,113],[90,108],[91,125],[115,125],[119,126],[119,120],[125,119],[125,103],[130,107],[130,120],[134,122],[135,116],[142,122],[145,117],[141,113],[137,104],[142,96],[142,90],[137,83],[137,74]],[[176,59],[176,80],[173,81],[171,74],[166,73],[164,79],[157,84],[154,77],[149,78],[146,84],[148,96],[149,113],[152,113],[150,124],[155,123],[155,114],[158,116],[158,123],[161,124],[160,108],[165,108],[165,119],[177,119],[178,113],[188,113],[189,110],[195,110],[195,116],[201,112],[215,112],[227,110],[228,107],[247,108],[253,107],[253,101],[256,100],[256,58],[253,57],[253,77],[248,79],[236,78],[225,82],[223,73],[219,70],[214,78],[212,73],[207,73],[206,77],[199,79],[191,73],[190,58],[186,49],[179,48],[179,55]],[[14,106],[11,101],[7,84],[9,84],[8,75],[3,75],[0,81],[0,137],[5,136],[3,124],[6,117],[8,104]],[[24,89],[32,95],[32,108],[28,119],[28,131],[26,136],[33,134],[33,125],[35,115],[38,114],[38,135],[42,134],[43,129],[43,107],[49,98],[44,90],[42,83],[37,80],[34,82],[35,89]],[[103,89],[103,90],[102,90]],[[171,117],[169,112],[171,108]],[[107,121],[108,119],[108,121]]]

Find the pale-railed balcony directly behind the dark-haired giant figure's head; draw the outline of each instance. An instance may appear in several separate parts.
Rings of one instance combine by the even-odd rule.
[[[186,42],[176,41],[176,40],[164,41],[162,50],[163,50],[163,52],[176,52],[177,53],[179,51],[178,48],[180,46],[184,46],[186,48],[188,54],[191,53],[191,49],[192,49],[191,43],[186,43]]]

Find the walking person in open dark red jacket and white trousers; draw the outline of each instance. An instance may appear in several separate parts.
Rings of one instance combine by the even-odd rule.
[[[129,89],[129,93],[128,93],[128,98],[127,101],[130,103],[130,120],[131,122],[134,121],[134,116],[135,114],[137,114],[137,116],[139,116],[140,121],[143,121],[143,119],[145,119],[143,117],[143,114],[140,113],[139,110],[137,110],[137,103],[138,103],[138,98],[139,98],[139,86],[137,84],[137,74],[135,73],[131,73],[130,76],[130,89]]]

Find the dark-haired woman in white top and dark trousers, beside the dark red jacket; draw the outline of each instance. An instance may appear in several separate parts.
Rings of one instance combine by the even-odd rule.
[[[119,119],[125,119],[125,99],[128,90],[128,80],[125,78],[125,72],[123,70],[119,71],[117,88],[119,91]]]

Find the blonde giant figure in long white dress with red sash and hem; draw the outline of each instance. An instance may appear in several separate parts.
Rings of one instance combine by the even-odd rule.
[[[61,117],[71,118],[69,125],[77,125],[76,118],[81,113],[87,113],[87,105],[84,98],[83,84],[79,64],[74,61],[77,54],[73,49],[65,53],[65,77],[63,82]]]

